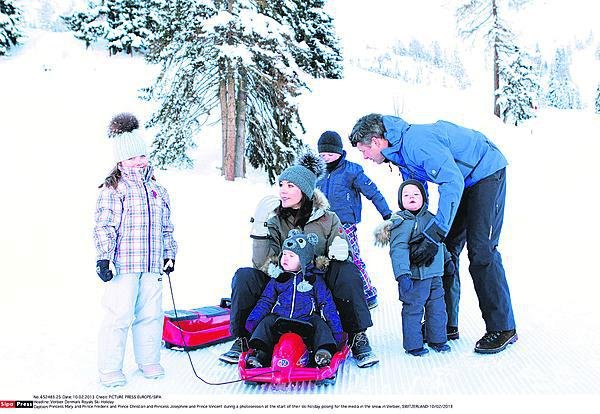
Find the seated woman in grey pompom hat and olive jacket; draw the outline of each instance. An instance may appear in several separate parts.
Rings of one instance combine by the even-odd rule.
[[[373,322],[360,271],[348,260],[348,242],[339,218],[329,211],[323,193],[315,189],[323,171],[323,161],[315,154],[306,153],[279,176],[279,197],[266,196],[259,202],[250,232],[254,267],[238,269],[231,281],[230,331],[237,339],[231,349],[219,357],[221,361],[238,362],[249,337],[246,320],[270,279],[266,267],[277,260],[281,243],[289,231],[299,229],[318,236],[316,256],[331,259],[324,279],[333,294],[342,327],[348,333],[357,365],[364,368],[379,362],[365,333]]]

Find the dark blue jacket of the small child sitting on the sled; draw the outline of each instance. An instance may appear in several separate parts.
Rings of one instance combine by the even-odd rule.
[[[311,315],[318,313],[334,335],[343,332],[333,296],[320,273],[309,264],[306,277],[302,272],[284,272],[277,279],[269,280],[246,320],[246,329],[253,332],[269,313],[302,321],[308,321]]]

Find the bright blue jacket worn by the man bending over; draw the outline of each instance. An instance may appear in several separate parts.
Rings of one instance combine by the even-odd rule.
[[[506,167],[500,150],[483,135],[446,121],[411,125],[383,116],[390,146],[381,154],[400,167],[404,179],[438,184],[438,211],[423,233],[439,243],[450,230],[463,190]]]

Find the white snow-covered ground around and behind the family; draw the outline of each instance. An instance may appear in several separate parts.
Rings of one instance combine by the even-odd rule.
[[[497,355],[473,353],[483,322],[465,258],[460,340],[451,343],[449,354],[405,355],[401,305],[387,251],[372,245],[371,231],[380,217],[367,204],[359,229],[380,292],[375,326],[369,330],[379,365],[358,369],[348,360],[330,387],[209,386],[194,377],[184,353],[166,349],[166,377],[145,380],[128,349],[127,386],[104,389],[96,378],[102,315],[102,283],[94,273],[91,240],[96,187],[111,168],[108,120],[123,110],[147,119],[151,107],[136,94],[152,70],[139,58],[109,59],[103,51],[85,51],[69,34],[35,31],[26,46],[0,58],[0,400],[112,394],[117,399],[159,395],[161,402],[173,404],[238,404],[220,412],[252,411],[239,407],[244,404],[262,404],[266,410],[267,404],[284,403],[310,405],[304,410],[309,412],[320,411],[317,404],[390,404],[394,408],[385,410],[397,412],[401,404],[435,403],[452,404],[457,413],[591,412],[600,403],[600,360],[594,351],[600,343],[595,265],[600,117],[589,111],[544,110],[522,127],[507,127],[489,117],[477,91],[417,88],[353,68],[347,68],[344,80],[315,81],[313,94],[303,98],[307,143],[314,144],[325,129],[347,136],[366,113],[402,108],[400,115],[412,122],[442,118],[478,128],[506,153],[508,200],[500,247],[519,341]],[[265,193],[275,192],[257,172],[233,183],[220,177],[219,132],[218,127],[207,129],[198,137],[196,169],[158,173],[171,194],[180,245],[172,276],[179,308],[216,304],[229,295],[233,272],[250,263],[248,218]],[[359,161],[356,150],[349,152]],[[398,171],[360,162],[394,205]],[[166,284],[164,308],[171,308]],[[228,346],[191,353],[201,377],[237,379],[234,366],[217,361]]]

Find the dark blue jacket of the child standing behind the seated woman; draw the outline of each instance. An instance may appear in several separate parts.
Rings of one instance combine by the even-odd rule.
[[[317,187],[325,194],[331,210],[344,224],[360,223],[361,193],[373,202],[382,217],[392,213],[385,198],[375,183],[366,176],[363,168],[346,160],[346,151],[342,154],[342,159],[337,167],[317,181]]]

